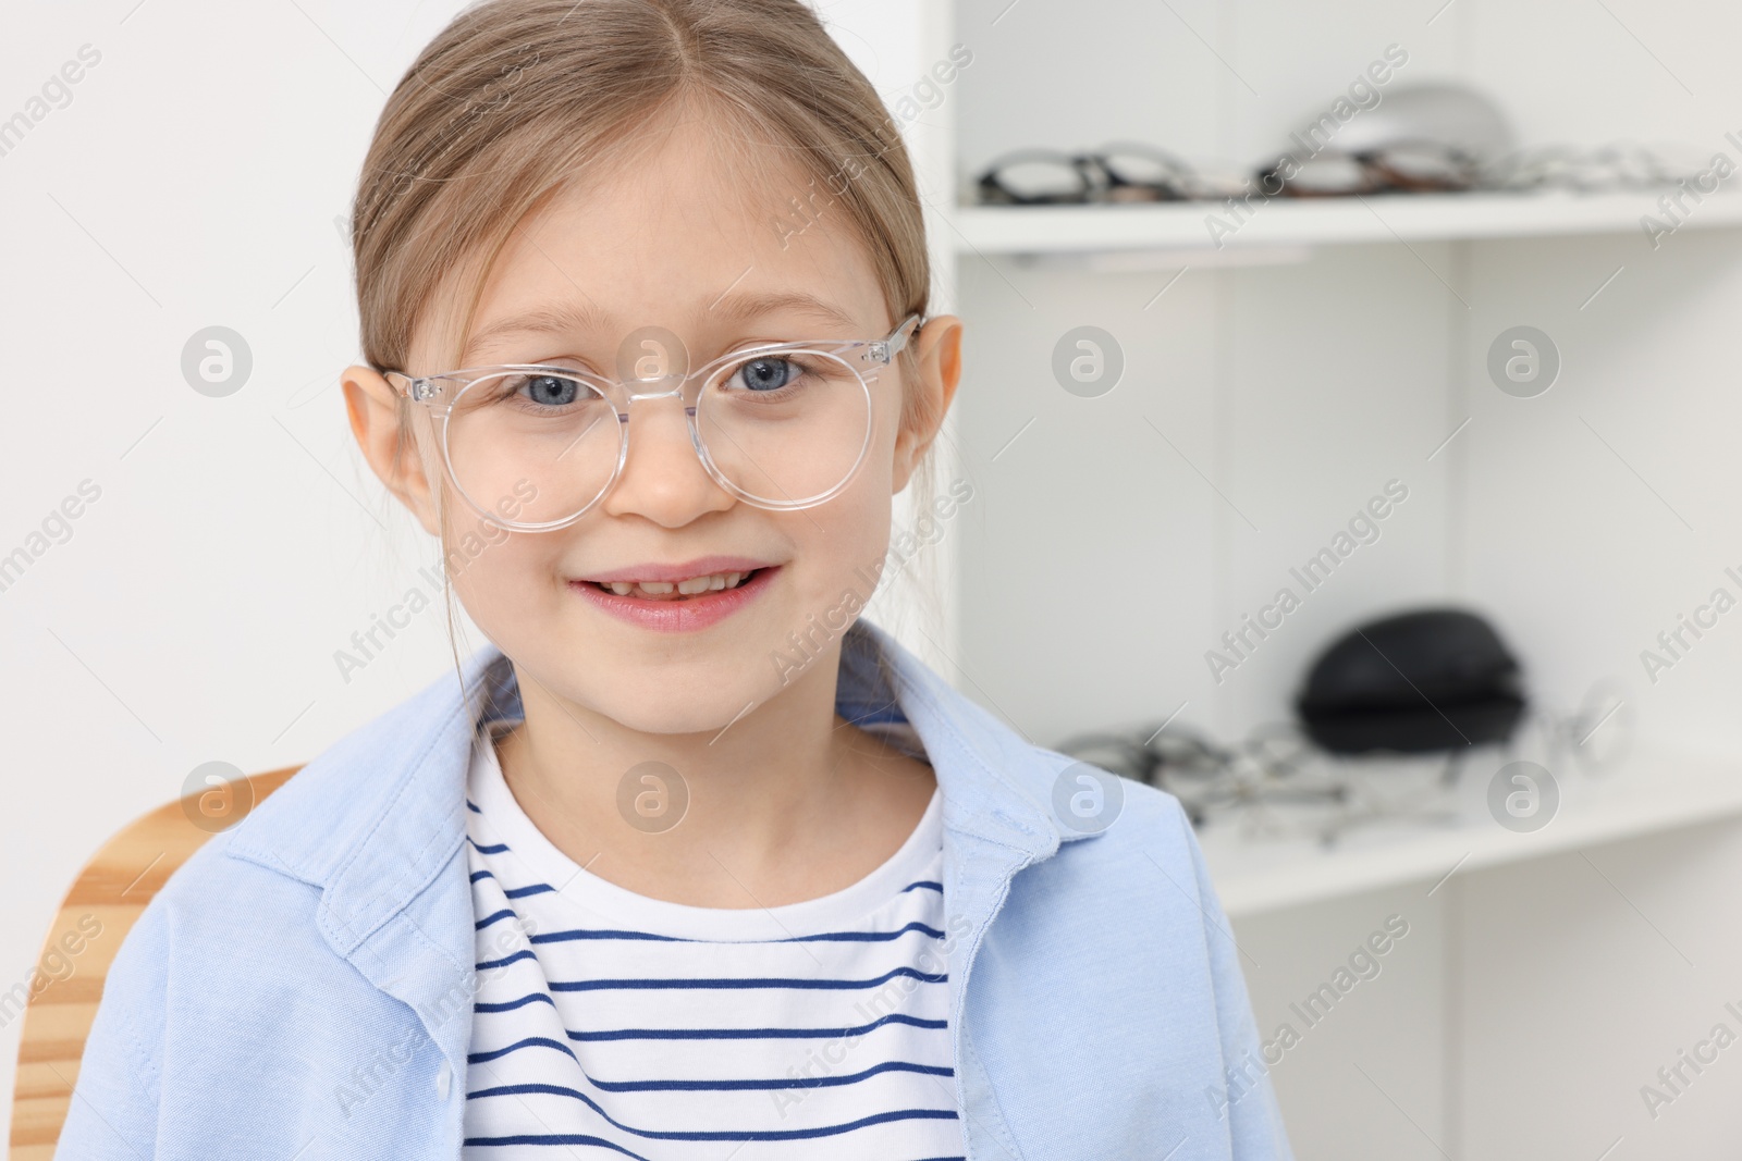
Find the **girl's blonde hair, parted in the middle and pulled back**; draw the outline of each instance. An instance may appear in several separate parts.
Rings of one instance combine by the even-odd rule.
[[[869,254],[892,325],[925,317],[930,263],[908,150],[808,3],[488,0],[423,49],[376,122],[352,209],[364,360],[406,371],[418,322],[453,291],[449,367],[514,228],[571,181],[631,160],[658,117],[685,111],[718,118],[716,139],[744,157],[794,164],[826,198],[824,221]],[[911,346],[899,367],[911,381]],[[401,397],[395,465],[409,413]],[[904,428],[941,418],[925,392],[906,393]],[[920,505],[930,466],[927,454],[915,472]],[[429,479],[439,501],[441,477]],[[446,569],[446,515],[441,527]]]

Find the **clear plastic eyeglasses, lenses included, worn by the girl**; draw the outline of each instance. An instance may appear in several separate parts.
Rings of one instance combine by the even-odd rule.
[[[549,364],[470,367],[429,376],[383,371],[441,423],[455,491],[481,517],[517,533],[578,520],[629,458],[629,406],[678,399],[690,444],[728,493],[761,508],[810,508],[852,480],[871,446],[871,383],[913,336],[908,315],[881,339],[801,339],[749,346],[697,367],[648,341],[634,378]]]

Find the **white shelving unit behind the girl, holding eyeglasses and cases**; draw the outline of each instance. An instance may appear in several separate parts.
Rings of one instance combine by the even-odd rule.
[[[1394,40],[1411,84],[1489,92],[1521,144],[1679,141],[1735,160],[1742,82],[1719,45],[1742,17],[1685,5],[1648,26],[1643,9],[1549,0],[897,7],[920,44],[883,59],[885,92],[955,44],[974,52],[906,125],[932,308],[969,324],[942,470],[977,472],[982,496],[942,545],[951,611],[922,654],[1043,743],[1185,700],[1183,726],[1233,740],[1287,714],[1286,675],[1315,644],[1399,604],[1496,614],[1547,701],[1629,672],[1650,726],[1634,755],[1608,776],[1556,771],[1538,832],[1474,802],[1329,849],[1214,822],[1198,837],[1266,1034],[1385,916],[1411,923],[1383,978],[1273,1074],[1303,1161],[1733,1156],[1733,1074],[1709,1070],[1662,1124],[1639,1084],[1711,1027],[1733,999],[1714,980],[1742,964],[1742,935],[1712,923],[1742,879],[1723,688],[1742,639],[1707,634],[1650,691],[1637,656],[1735,559],[1742,489],[1714,468],[1742,430],[1742,179],[1686,198],[1662,245],[1641,219],[1671,223],[1664,191],[1254,198],[1237,219],[1221,202],[988,207],[958,190],[1023,146],[1256,158]],[[1052,381],[1077,325],[1124,346],[1104,397]],[[1516,325],[1564,355],[1540,399],[1489,383],[1489,345]],[[1390,475],[1415,507],[1385,543],[1212,688],[1204,649]],[[1146,599],[1103,602],[1084,578]]]

